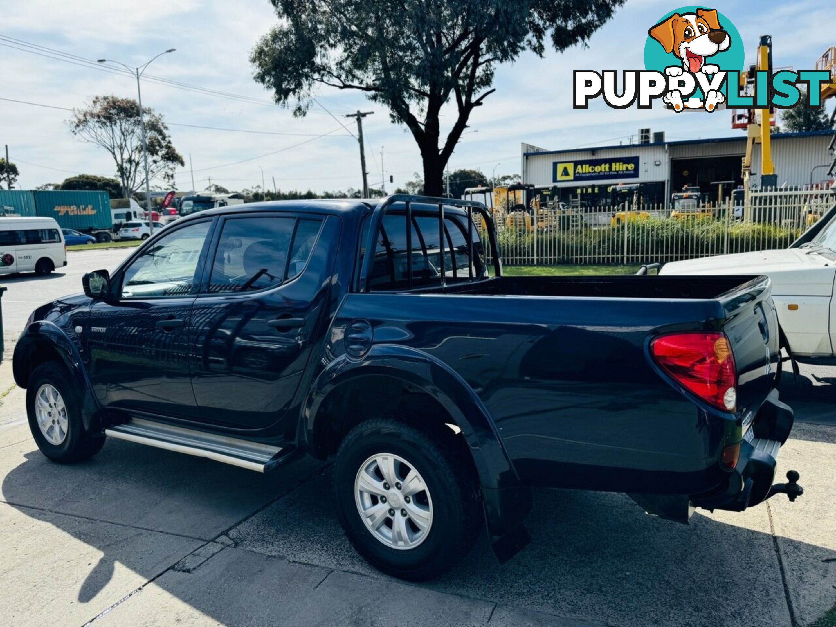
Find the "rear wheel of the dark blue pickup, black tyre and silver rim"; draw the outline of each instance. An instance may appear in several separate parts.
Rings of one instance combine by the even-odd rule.
[[[354,427],[337,452],[339,522],[366,560],[400,579],[445,572],[482,528],[476,471],[461,436],[446,429],[376,419]]]

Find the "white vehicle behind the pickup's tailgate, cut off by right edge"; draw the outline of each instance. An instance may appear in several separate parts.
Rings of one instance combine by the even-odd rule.
[[[836,217],[797,248],[665,263],[660,274],[765,274],[790,354],[808,363],[836,357]]]

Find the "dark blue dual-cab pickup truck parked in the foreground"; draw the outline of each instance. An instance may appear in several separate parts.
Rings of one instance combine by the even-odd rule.
[[[410,580],[485,526],[512,558],[532,487],[681,523],[803,492],[773,484],[793,410],[767,278],[513,277],[498,250],[484,205],[426,196],[182,217],[35,309],[13,356],[33,438],[67,464],[109,439],[331,460],[322,502]]]

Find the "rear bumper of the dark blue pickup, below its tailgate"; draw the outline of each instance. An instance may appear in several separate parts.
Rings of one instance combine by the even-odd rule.
[[[778,452],[792,428],[792,408],[778,400],[777,390],[772,390],[752,421],[752,437],[741,442],[737,466],[721,487],[692,497],[693,505],[742,512],[767,500],[772,496]]]

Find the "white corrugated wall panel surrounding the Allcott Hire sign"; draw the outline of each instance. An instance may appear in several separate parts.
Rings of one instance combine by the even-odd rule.
[[[593,154],[594,152],[594,154]],[[669,173],[669,161],[665,154],[665,145],[627,145],[619,148],[604,150],[574,150],[571,152],[551,152],[543,155],[528,155],[525,167],[524,183],[535,186],[574,187],[586,182],[598,181],[561,181],[553,182],[553,164],[557,161],[583,161],[586,159],[618,159],[623,157],[639,157],[639,176],[625,179],[604,179],[599,182],[607,185],[624,183],[643,183],[649,181],[665,181]],[[524,158],[524,157],[523,157]],[[524,158],[525,159],[525,158]],[[660,165],[656,166],[655,162]]]

